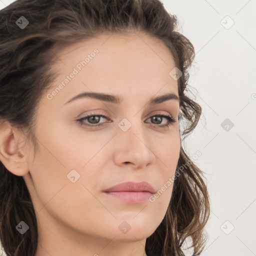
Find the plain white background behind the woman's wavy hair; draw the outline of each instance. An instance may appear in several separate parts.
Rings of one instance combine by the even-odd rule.
[[[184,146],[201,152],[210,193],[201,255],[256,255],[256,0],[161,1],[196,53],[189,86],[202,116]]]

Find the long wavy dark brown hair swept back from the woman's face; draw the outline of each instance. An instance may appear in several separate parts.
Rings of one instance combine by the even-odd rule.
[[[24,16],[24,28],[15,23]],[[188,70],[194,47],[178,32],[178,20],[160,0],[16,0],[0,10],[0,120],[9,121],[36,148],[35,117],[41,96],[56,77],[51,69],[53,46],[75,43],[104,32],[144,32],[162,40],[182,75],[177,80],[180,98],[178,119],[185,123],[184,138],[197,125],[201,107],[186,95]],[[185,169],[179,171],[182,166]],[[159,226],[146,238],[148,256],[183,256],[183,243],[199,255],[207,240],[209,196],[203,171],[180,148],[171,199]],[[29,229],[20,234],[24,220]],[[37,222],[29,191],[22,176],[0,162],[0,240],[6,255],[34,256]]]

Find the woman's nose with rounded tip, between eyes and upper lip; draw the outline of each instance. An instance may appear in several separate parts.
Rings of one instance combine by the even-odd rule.
[[[127,125],[127,120],[125,125]],[[115,163],[117,165],[130,164],[134,169],[143,169],[152,164],[156,158],[153,151],[153,138],[146,134],[146,128],[141,120],[136,123],[133,121],[131,126],[126,131],[124,130],[120,128],[117,132]]]

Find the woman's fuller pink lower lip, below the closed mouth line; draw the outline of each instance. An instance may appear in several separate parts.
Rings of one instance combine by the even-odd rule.
[[[116,199],[130,203],[144,202],[152,195],[152,193],[147,191],[111,191],[104,193]]]

